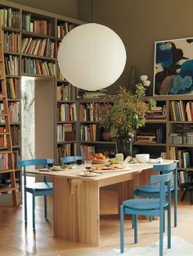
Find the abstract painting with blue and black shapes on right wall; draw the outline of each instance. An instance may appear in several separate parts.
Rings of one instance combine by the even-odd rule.
[[[154,94],[193,94],[193,38],[155,42]]]

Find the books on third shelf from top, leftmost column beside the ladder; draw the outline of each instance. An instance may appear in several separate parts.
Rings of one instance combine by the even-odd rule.
[[[6,56],[5,57],[5,68],[6,75],[19,75],[19,57],[17,56]]]

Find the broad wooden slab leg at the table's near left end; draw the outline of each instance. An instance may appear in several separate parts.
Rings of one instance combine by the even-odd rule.
[[[54,235],[66,240],[99,245],[98,183],[54,177],[53,184]]]

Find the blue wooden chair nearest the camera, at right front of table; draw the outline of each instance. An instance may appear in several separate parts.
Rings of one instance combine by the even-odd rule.
[[[137,215],[159,217],[159,256],[163,256],[164,210],[168,210],[168,249],[171,248],[171,176],[172,173],[150,176],[150,184],[159,183],[158,199],[130,199],[120,205],[120,252],[124,252],[124,214],[134,216],[134,243],[137,243]],[[167,187],[167,199],[165,188]]]

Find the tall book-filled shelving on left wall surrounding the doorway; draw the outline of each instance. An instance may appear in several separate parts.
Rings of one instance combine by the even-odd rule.
[[[57,51],[61,39],[77,25],[84,24],[67,16],[1,1],[2,41],[6,68],[8,109],[16,170],[16,183],[21,197],[21,78],[34,77],[37,91],[35,130],[38,145],[36,157],[56,158],[77,151],[77,91],[61,75],[57,66]],[[46,92],[46,93],[45,93]],[[60,94],[60,96],[59,96]],[[2,111],[0,103],[0,113]],[[46,113],[46,114],[45,114]],[[62,115],[61,115],[62,114]],[[52,123],[52,126],[50,125]],[[1,128],[0,124],[0,129]],[[45,130],[45,127],[47,129]],[[49,137],[47,139],[47,137]],[[39,144],[39,139],[45,141]],[[0,142],[1,144],[2,142]],[[2,143],[1,149],[6,149]],[[45,155],[43,155],[45,154]],[[7,182],[8,178],[7,178]]]

